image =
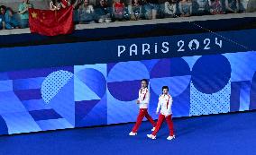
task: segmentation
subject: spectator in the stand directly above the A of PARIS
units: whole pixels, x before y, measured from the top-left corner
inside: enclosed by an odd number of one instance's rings
[[[137,21],[142,18],[142,3],[140,0],[132,0],[132,4],[128,6],[131,20]]]

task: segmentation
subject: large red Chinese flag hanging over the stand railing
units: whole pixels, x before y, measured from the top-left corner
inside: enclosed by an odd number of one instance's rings
[[[74,30],[73,7],[59,11],[29,9],[30,30],[45,36],[69,34]]]

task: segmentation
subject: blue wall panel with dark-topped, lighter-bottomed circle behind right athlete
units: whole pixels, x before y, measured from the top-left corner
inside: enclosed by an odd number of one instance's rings
[[[151,103],[153,103],[153,107],[150,112],[155,114],[161,87],[167,85],[169,93],[175,101],[172,110],[176,112],[173,116],[189,116],[190,82],[191,71],[183,58],[160,59],[151,70]]]

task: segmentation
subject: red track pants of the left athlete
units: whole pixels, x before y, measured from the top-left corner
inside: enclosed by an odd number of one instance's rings
[[[153,118],[148,113],[148,108],[140,108],[139,116],[137,117],[136,124],[134,125],[133,130],[132,130],[133,133],[137,133],[140,125],[142,124],[142,120],[143,120],[144,116],[146,116],[146,118],[151,122],[151,125],[153,125],[153,126],[156,125]]]

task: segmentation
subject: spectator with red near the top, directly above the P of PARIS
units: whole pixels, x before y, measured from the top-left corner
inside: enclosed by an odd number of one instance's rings
[[[113,15],[117,21],[124,21],[124,9],[125,6],[121,0],[114,0],[113,3]]]

